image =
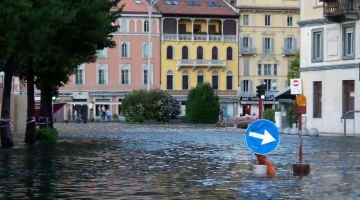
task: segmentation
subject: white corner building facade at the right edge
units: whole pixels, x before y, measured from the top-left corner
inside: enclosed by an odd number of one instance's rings
[[[302,0],[300,72],[307,97],[307,127],[343,133],[340,120],[360,110],[359,0]],[[360,133],[360,113],[349,114],[347,132]]]

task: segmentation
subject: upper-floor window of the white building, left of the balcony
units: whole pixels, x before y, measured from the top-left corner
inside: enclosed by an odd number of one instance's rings
[[[311,30],[311,62],[323,62],[324,28]]]

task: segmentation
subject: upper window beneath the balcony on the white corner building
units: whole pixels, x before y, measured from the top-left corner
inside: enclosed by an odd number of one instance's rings
[[[355,59],[355,24],[343,25],[343,59]]]

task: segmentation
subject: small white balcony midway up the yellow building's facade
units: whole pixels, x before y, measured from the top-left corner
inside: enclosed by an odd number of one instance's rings
[[[192,67],[193,71],[198,67],[206,67],[208,71],[214,67],[221,67],[222,70],[225,70],[226,61],[225,60],[178,60],[176,69],[179,70],[182,67]]]

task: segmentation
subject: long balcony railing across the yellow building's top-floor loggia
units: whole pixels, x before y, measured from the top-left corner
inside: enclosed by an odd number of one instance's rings
[[[208,34],[162,34],[163,41],[204,41],[204,42],[237,42],[236,35],[208,35]]]

